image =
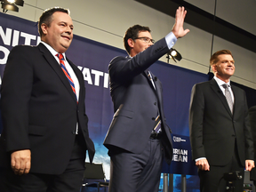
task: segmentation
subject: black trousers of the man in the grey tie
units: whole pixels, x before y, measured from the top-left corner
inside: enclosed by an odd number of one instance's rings
[[[224,173],[239,171],[243,176],[242,180],[235,180],[233,187],[234,192],[242,192],[244,185],[244,166],[240,163],[237,149],[235,147],[232,160],[224,166],[213,166],[210,164],[210,171],[198,171],[200,178],[201,192],[226,192],[227,181],[224,180]]]

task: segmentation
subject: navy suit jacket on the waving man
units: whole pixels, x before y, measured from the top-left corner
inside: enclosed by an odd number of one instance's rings
[[[164,119],[162,84],[152,75],[155,90],[145,72],[168,51],[163,38],[133,58],[116,57],[111,60],[108,70],[115,114],[104,140],[108,149],[114,146],[140,154],[146,148],[159,108],[164,132],[164,153],[167,163],[171,163],[171,130]]]

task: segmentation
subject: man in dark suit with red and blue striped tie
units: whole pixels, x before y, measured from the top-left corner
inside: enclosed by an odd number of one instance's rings
[[[52,8],[38,28],[42,43],[14,47],[4,69],[0,191],[77,192],[86,150],[91,162],[95,150],[84,78],[65,55],[73,22],[67,9]]]

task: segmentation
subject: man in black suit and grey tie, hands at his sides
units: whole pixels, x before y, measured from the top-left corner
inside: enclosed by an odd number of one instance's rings
[[[224,173],[239,171],[235,191],[243,191],[244,167],[254,167],[253,143],[245,92],[230,85],[235,61],[230,51],[215,52],[210,60],[214,77],[195,84],[191,93],[189,128],[200,190],[226,191]],[[226,99],[227,98],[227,99]]]

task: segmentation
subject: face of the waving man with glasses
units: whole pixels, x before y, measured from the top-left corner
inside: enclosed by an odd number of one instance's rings
[[[144,41],[144,38],[140,37],[145,37],[145,39],[152,39],[152,36],[148,31],[140,31],[138,34],[138,38],[135,40],[131,40],[131,44],[129,44],[131,47],[130,55],[132,57],[140,52],[143,52],[152,45],[152,42],[147,43]]]

